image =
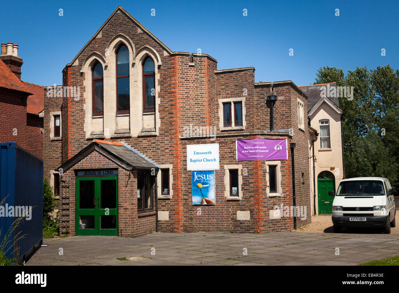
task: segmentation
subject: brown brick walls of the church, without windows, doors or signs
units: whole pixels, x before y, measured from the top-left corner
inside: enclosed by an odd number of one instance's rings
[[[119,12],[118,12],[119,11]],[[310,174],[308,159],[308,130],[298,128],[297,99],[304,103],[304,117],[307,117],[307,96],[291,81],[273,84],[278,100],[274,107],[275,132],[270,132],[270,102],[267,95],[271,83],[255,83],[253,67],[218,71],[217,61],[206,54],[171,52],[160,41],[144,31],[122,8],[107,22],[77,59],[63,69],[63,86],[80,87],[80,98],[49,98],[45,94],[45,173],[50,178],[51,171],[75,156],[88,146],[93,138],[85,133],[85,92],[84,82],[91,76],[81,72],[85,60],[93,52],[105,57],[108,44],[118,34],[129,40],[136,52],[148,46],[158,53],[162,65],[158,66],[158,85],[156,92],[160,98],[158,106],[159,128],[157,135],[114,136],[99,138],[110,142],[125,142],[158,164],[171,164],[170,175],[173,179],[173,195],[170,199],[158,199],[158,210],[169,212],[169,220],[158,222],[160,232],[261,232],[290,231],[293,229],[292,217],[270,219],[269,212],[275,206],[292,206],[291,156],[281,160],[281,197],[269,197],[266,185],[265,161],[237,161],[235,141],[240,139],[269,138],[287,139],[296,143],[295,185],[296,205],[306,206],[306,219],[296,218],[297,227],[311,221]],[[190,65],[190,63],[194,63]],[[138,66],[137,64],[134,66]],[[109,70],[109,69],[107,69]],[[104,71],[106,72],[106,70]],[[130,77],[132,78],[132,77]],[[247,95],[244,96],[244,89]],[[221,130],[219,128],[219,100],[225,98],[245,98],[244,130]],[[62,114],[62,140],[50,140],[48,129],[49,113]],[[131,115],[141,115],[134,113]],[[216,139],[209,137],[182,138],[184,126],[216,127]],[[293,130],[292,136],[281,130]],[[279,131],[280,130],[280,131]],[[191,144],[219,144],[220,169],[215,170],[215,206],[192,205],[191,171],[187,170],[186,147]],[[225,165],[242,165],[247,175],[242,176],[242,194],[239,201],[225,197]],[[68,228],[75,232],[75,171],[78,169],[119,170],[119,236],[140,236],[155,230],[155,213],[137,213],[137,173],[130,171],[131,181],[126,183],[128,171],[124,170],[101,154],[91,153],[70,170],[64,173],[62,180],[69,186],[69,197],[60,199],[65,206],[62,216],[62,231]],[[302,176],[303,173],[303,176]],[[122,184],[123,183],[123,184]],[[127,185],[126,185],[127,184]],[[155,202],[154,202],[155,203]],[[237,211],[249,211],[249,220],[238,220]],[[66,214],[67,213],[67,214]]]

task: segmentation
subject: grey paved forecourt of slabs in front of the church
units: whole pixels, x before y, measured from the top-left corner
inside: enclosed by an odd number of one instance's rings
[[[399,255],[399,234],[153,233],[137,238],[70,236],[43,243],[49,246],[26,265],[357,265]],[[149,259],[117,260],[133,256]]]

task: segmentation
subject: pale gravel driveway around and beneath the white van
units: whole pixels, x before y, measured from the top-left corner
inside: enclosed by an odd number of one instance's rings
[[[396,222],[399,221],[398,217],[399,217],[399,212],[398,215],[396,216]],[[395,228],[391,228],[391,234],[399,234],[398,225],[396,225]],[[312,223],[306,227],[299,228],[297,232],[334,233],[334,229],[332,227],[331,215],[322,215],[322,216],[312,215]],[[382,232],[379,231],[379,229],[369,229],[369,228],[342,228],[342,233],[382,234]]]

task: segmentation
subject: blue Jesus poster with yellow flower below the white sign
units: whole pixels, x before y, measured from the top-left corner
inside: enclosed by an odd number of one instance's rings
[[[215,205],[215,171],[192,171],[193,205]]]

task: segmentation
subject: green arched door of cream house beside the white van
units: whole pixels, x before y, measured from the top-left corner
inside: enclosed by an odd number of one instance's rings
[[[334,197],[328,191],[335,193],[335,179],[331,172],[323,171],[317,178],[319,214],[332,214],[332,201]]]

